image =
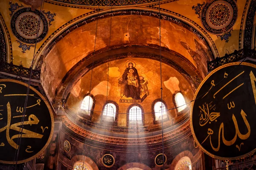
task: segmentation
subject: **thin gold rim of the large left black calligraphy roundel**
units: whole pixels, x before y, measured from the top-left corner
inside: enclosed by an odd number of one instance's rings
[[[20,81],[17,81],[17,80],[13,80],[13,79],[0,79],[0,84],[2,85],[3,82],[14,82],[14,83],[17,83],[17,84],[20,84],[20,85],[23,85],[25,86],[26,88],[28,87],[28,84],[24,83],[24,82],[20,82]],[[2,90],[2,93],[3,93],[3,90],[5,88],[1,88]],[[49,105],[48,102],[46,102],[47,100],[44,98],[44,96],[39,92],[37,91],[35,88],[33,88],[32,86],[29,86],[29,89],[32,90],[33,92],[35,92],[45,103],[45,105],[47,106],[48,110],[49,110],[49,114],[50,114],[50,119],[51,119],[51,131],[49,133],[49,138],[47,139],[47,142],[45,143],[44,147],[38,151],[38,153],[36,153],[34,156],[31,156],[27,159],[23,159],[23,160],[19,160],[17,161],[17,164],[21,164],[21,163],[24,163],[24,162],[27,162],[27,161],[30,161],[32,159],[35,159],[37,156],[39,156],[42,152],[44,152],[44,150],[48,147],[49,143],[51,142],[51,139],[52,139],[52,135],[53,135],[53,131],[54,131],[54,117],[53,117],[53,113],[52,113],[52,109]],[[35,98],[36,99],[36,98]],[[28,107],[27,107],[28,108]],[[30,117],[30,116],[29,116]],[[32,117],[33,119],[34,117]],[[35,118],[34,118],[35,119]],[[34,125],[34,124],[32,124]],[[30,125],[31,126],[31,125]],[[24,128],[25,129],[25,128]],[[45,128],[42,128],[41,127],[41,130],[46,130],[46,127]],[[26,132],[23,132],[23,133],[26,133]],[[22,147],[21,145],[19,147]],[[30,147],[31,148],[31,147]],[[27,148],[26,150],[28,150],[29,148]],[[29,151],[31,152],[31,151]],[[13,164],[13,161],[3,161],[3,160],[0,160],[0,163],[4,163],[4,164]]]

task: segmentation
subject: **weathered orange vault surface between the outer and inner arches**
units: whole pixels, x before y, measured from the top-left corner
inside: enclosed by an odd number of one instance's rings
[[[98,20],[97,37],[96,21],[93,21],[67,34],[46,54],[41,68],[41,82],[50,99],[55,98],[56,89],[67,77],[67,72],[72,71],[74,65],[94,50],[113,48],[115,45],[119,48],[132,45],[157,48],[159,45],[158,18],[122,15],[114,16],[111,20],[111,37],[110,18],[102,18]],[[194,70],[198,69],[199,77],[205,77],[207,60],[211,60],[212,54],[209,54],[209,47],[204,41],[179,23],[167,20],[161,20],[161,35],[163,51],[164,48],[175,51]],[[160,54],[159,51],[157,53]]]

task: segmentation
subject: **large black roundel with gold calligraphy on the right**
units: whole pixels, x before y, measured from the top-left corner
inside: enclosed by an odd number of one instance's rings
[[[201,150],[229,160],[256,151],[256,65],[233,62],[215,69],[194,100],[190,124]]]

